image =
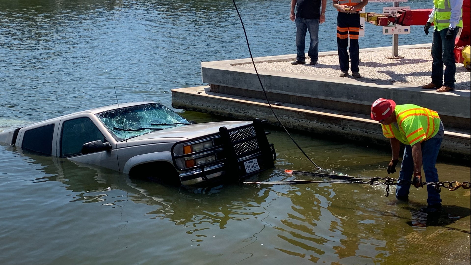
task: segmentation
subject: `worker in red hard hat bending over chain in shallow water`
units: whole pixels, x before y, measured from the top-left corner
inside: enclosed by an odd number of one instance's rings
[[[401,142],[406,145],[399,171],[396,198],[408,200],[412,175],[413,185],[423,187],[422,165],[426,182],[438,182],[439,175],[435,163],[445,129],[436,111],[413,104],[396,105],[391,99],[376,99],[371,105],[371,118],[382,126],[382,132],[390,139],[392,159],[388,174],[396,172]],[[404,183],[400,183],[404,182]],[[427,185],[427,213],[441,209],[440,194],[433,186]]]

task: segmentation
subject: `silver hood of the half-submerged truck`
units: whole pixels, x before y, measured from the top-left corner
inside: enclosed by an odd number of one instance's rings
[[[161,131],[149,132],[141,136],[129,139],[128,141],[140,141],[159,138],[182,138],[192,139],[211,133],[219,132],[219,127],[226,126],[227,129],[252,124],[251,121],[229,121],[229,122],[213,122],[202,124],[191,124],[183,126],[175,126]]]

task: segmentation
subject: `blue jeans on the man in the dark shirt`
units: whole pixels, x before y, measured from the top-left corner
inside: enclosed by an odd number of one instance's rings
[[[308,55],[311,61],[317,62],[319,57],[319,19],[296,17],[294,21],[296,22],[296,59],[301,62],[306,61],[304,48],[306,46],[306,31],[309,31],[311,43]]]

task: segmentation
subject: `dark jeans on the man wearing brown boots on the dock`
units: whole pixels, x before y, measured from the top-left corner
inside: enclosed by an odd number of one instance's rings
[[[459,28],[455,28],[455,37]],[[448,29],[441,31],[433,31],[432,40],[432,82],[440,87],[446,85],[455,88],[455,37],[452,40],[446,40]],[[445,75],[443,75],[443,65],[445,68]],[[445,82],[443,82],[445,81]]]

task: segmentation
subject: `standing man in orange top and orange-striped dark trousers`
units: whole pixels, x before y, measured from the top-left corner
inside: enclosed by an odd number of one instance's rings
[[[360,78],[358,70],[360,51],[358,47],[358,34],[360,33],[360,10],[366,6],[368,0],[333,0],[333,7],[339,11],[337,15],[337,50],[339,52],[340,77],[349,75],[349,46],[350,35],[350,63],[353,78]]]

